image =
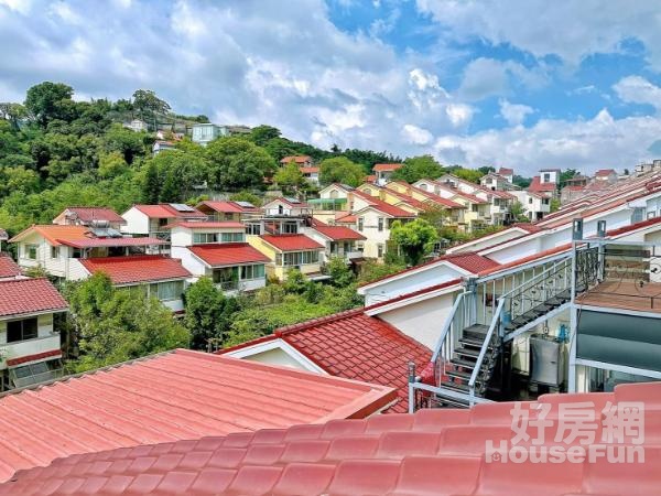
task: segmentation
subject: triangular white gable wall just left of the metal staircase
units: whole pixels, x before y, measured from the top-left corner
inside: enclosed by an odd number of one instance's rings
[[[378,316],[427,348],[434,349],[457,294],[430,298],[398,310],[379,313]]]

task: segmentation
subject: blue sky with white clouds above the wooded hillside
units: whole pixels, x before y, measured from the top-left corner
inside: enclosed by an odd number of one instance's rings
[[[661,155],[655,0],[0,0],[0,101],[152,88],[322,148],[524,175]]]

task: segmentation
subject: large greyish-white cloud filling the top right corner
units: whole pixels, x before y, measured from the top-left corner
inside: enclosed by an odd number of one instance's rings
[[[620,51],[622,41],[638,39],[650,63],[661,68],[657,0],[416,0],[416,7],[448,36],[510,44],[537,57],[557,55],[573,65],[590,54]]]

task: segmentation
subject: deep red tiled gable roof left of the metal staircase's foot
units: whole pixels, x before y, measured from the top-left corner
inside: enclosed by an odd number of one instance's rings
[[[269,337],[282,338],[333,376],[397,388],[398,402],[389,412],[408,411],[409,362],[424,367],[432,357],[429,348],[387,322],[366,315],[364,309],[282,327]],[[264,338],[257,341],[261,342]],[[257,343],[251,341],[219,353]]]

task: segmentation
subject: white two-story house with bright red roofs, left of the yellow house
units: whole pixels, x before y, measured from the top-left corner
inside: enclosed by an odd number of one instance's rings
[[[209,277],[227,293],[254,291],[267,283],[271,260],[246,242],[238,222],[180,222],[171,226],[172,257],[197,279]]]

